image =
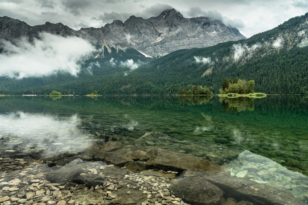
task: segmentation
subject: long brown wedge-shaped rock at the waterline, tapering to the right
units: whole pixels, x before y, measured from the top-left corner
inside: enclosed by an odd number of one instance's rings
[[[162,169],[165,171],[182,172],[184,170],[207,171],[209,173],[228,172],[222,166],[206,159],[173,152],[165,149],[148,151],[148,168]]]

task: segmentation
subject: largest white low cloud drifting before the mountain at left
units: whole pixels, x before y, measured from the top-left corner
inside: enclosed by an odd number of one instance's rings
[[[24,78],[44,76],[56,71],[77,75],[79,61],[95,48],[86,40],[78,37],[62,37],[41,33],[33,43],[21,38],[16,45],[2,40],[4,52],[0,54],[0,76]]]

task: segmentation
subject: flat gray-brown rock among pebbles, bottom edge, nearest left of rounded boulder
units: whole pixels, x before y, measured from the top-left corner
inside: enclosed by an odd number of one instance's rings
[[[130,191],[131,194],[126,193]],[[128,188],[121,188],[115,192],[115,199],[111,203],[116,204],[140,204],[146,200],[146,196],[141,191]]]

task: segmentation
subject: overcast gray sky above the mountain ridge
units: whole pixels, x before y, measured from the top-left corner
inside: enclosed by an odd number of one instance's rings
[[[101,27],[131,15],[149,18],[175,8],[186,18],[207,16],[237,27],[246,37],[308,12],[308,0],[0,0],[0,16],[31,26],[61,22],[75,30]]]

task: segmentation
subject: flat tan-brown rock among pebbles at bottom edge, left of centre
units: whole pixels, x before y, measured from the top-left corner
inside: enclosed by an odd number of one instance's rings
[[[75,200],[74,203],[78,204],[98,204],[102,203],[104,195],[99,192],[90,190],[75,190],[71,200]]]

